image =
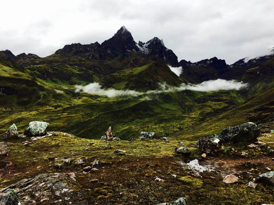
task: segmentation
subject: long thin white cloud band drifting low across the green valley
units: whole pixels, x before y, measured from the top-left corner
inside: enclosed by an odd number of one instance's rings
[[[218,90],[240,90],[247,87],[247,83],[238,82],[235,80],[209,80],[199,83],[197,85],[190,85],[182,83],[178,87],[170,86],[165,83],[159,84],[159,89],[148,90],[147,92],[138,92],[135,90],[116,90],[113,88],[102,88],[99,83],[90,83],[86,86],[77,85],[76,92],[85,92],[93,95],[107,96],[108,98],[120,96],[138,96],[144,94],[159,94],[162,92],[180,92],[183,90],[195,90],[200,92],[210,92]]]

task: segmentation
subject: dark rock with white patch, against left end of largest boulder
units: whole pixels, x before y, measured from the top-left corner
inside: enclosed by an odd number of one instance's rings
[[[196,146],[203,153],[216,154],[221,147],[219,143],[220,139],[218,138],[218,135],[212,134],[198,139]]]

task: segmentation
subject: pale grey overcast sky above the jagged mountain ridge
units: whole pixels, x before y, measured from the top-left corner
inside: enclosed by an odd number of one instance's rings
[[[125,26],[136,42],[163,39],[178,60],[231,64],[274,46],[273,0],[1,1],[0,50],[41,57],[65,44],[102,43]]]

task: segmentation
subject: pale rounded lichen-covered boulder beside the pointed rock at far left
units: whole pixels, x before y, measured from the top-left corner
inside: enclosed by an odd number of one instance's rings
[[[29,126],[24,132],[24,135],[33,136],[44,136],[47,134],[47,128],[49,124],[47,122],[33,121],[29,123]]]

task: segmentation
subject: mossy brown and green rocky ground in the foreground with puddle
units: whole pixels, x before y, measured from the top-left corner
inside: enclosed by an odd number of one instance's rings
[[[216,155],[203,157],[196,140],[105,141],[64,132],[11,138],[0,144],[0,199],[21,204],[272,204],[273,185],[255,181],[274,169],[271,127],[261,125],[253,142],[223,145]]]

